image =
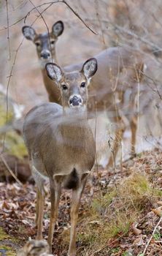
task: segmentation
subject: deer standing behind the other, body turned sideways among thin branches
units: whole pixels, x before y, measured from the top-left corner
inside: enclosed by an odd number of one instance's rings
[[[53,25],[52,31],[55,30],[57,31],[56,34],[54,33],[55,37],[62,34],[63,23],[61,21]],[[25,26],[23,27],[23,35],[26,39],[30,39],[36,44],[36,51],[40,61],[45,64],[45,62],[52,58],[57,63],[55,50],[50,50],[53,33],[49,35],[47,33],[36,34],[33,28]],[[53,47],[55,47],[55,43]],[[44,50],[47,50],[48,57],[42,54]],[[109,120],[116,124],[114,129],[115,139],[112,145],[113,154],[109,157],[107,163],[107,168],[109,168],[114,165],[114,159],[128,124],[131,128],[131,156],[134,157],[136,155],[135,146],[138,115],[136,114],[135,101],[138,84],[142,81],[144,63],[142,54],[139,54],[136,50],[123,47],[107,48],[94,56],[94,58],[97,59],[99,68],[98,74],[93,76],[88,88],[88,118],[92,118],[96,113],[105,110]],[[76,69],[81,69],[82,64],[82,62],[71,64],[63,67],[63,70],[65,72],[72,72]],[[61,104],[61,93],[56,83],[55,86],[51,84],[45,72],[45,65],[42,65],[42,74],[49,101]],[[126,99],[128,90],[133,91],[131,93],[131,99],[129,97]]]

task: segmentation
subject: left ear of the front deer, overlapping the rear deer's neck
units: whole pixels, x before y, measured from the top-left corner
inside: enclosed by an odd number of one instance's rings
[[[61,67],[54,63],[47,63],[45,65],[47,75],[50,79],[55,80],[57,83],[60,82],[61,78],[63,77],[63,72]]]

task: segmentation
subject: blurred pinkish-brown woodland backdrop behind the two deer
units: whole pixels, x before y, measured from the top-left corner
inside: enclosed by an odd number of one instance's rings
[[[68,4],[96,34],[82,23]],[[66,3],[8,0],[0,1],[1,149],[18,159],[27,155],[23,140],[18,135],[18,122],[15,127],[15,119],[20,119],[34,105],[47,101],[35,45],[23,38],[21,29],[24,25],[32,25],[37,33],[42,33],[47,31],[47,26],[51,30],[58,20],[64,23],[63,34],[56,44],[61,66],[85,61],[101,50],[117,45],[144,54],[146,78],[151,83],[148,83],[149,93],[142,100],[148,97],[150,108],[141,110],[136,148],[138,152],[157,146],[161,148],[161,0],[67,0]],[[7,90],[9,105],[5,97]],[[103,113],[97,120],[99,129],[96,136],[99,162],[103,166],[107,164],[109,151],[109,122],[105,119]],[[128,154],[129,129],[125,140],[123,157]]]

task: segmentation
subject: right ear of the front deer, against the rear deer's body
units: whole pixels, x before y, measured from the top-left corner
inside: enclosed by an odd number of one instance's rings
[[[82,66],[81,72],[85,75],[85,78],[92,78],[97,71],[97,60],[95,58],[88,59]]]

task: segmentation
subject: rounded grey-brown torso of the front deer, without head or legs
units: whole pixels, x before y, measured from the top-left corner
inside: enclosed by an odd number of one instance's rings
[[[42,175],[68,176],[74,169],[82,173],[93,167],[95,145],[88,121],[71,115],[63,116],[60,105],[45,103],[26,116],[26,146]]]

